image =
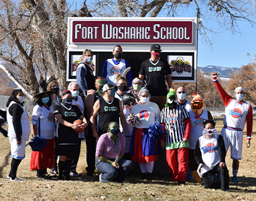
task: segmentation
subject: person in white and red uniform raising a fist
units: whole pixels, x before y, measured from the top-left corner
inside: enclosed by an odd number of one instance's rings
[[[251,145],[251,133],[253,131],[253,108],[245,102],[245,90],[238,86],[235,88],[235,98],[229,96],[218,82],[218,72],[212,72],[212,79],[225,104],[225,117],[220,135],[222,135],[226,151],[231,146],[231,159],[233,159],[234,183],[238,183],[237,172],[239,160],[242,158],[243,129],[247,123],[247,147]]]

